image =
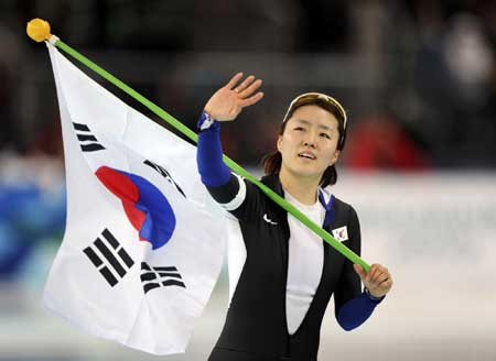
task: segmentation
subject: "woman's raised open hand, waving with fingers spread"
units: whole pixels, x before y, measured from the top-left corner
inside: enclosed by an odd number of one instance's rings
[[[254,92],[261,86],[262,80],[250,75],[241,84],[242,73],[236,74],[229,83],[218,89],[205,105],[205,111],[217,121],[235,120],[242,108],[255,105],[263,92]]]

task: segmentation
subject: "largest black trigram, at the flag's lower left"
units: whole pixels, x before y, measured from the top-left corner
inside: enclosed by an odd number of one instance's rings
[[[114,287],[119,283],[116,273],[122,278],[132,267],[134,261],[132,261],[128,252],[126,252],[108,229],[105,229],[101,232],[101,236],[106,242],[100,238],[97,238],[93,244],[85,248],[83,252],[87,255],[89,261],[91,261],[98,272],[100,272],[107,283]]]

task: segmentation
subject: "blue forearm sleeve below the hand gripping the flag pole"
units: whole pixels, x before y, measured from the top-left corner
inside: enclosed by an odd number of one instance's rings
[[[343,329],[351,331],[365,322],[374,311],[374,308],[382,302],[381,298],[370,298],[365,292],[349,299],[336,311],[336,319]]]

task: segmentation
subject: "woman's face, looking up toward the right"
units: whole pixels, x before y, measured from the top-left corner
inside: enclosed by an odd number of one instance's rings
[[[337,119],[327,110],[314,105],[298,108],[278,138],[281,171],[321,179],[339,156],[337,129]]]

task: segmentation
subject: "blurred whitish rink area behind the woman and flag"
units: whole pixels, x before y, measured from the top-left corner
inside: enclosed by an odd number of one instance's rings
[[[331,302],[319,360],[496,360],[496,174],[346,173],[332,192],[358,212],[365,261],[386,265],[395,285],[351,332]],[[1,286],[0,360],[158,360],[41,307],[55,251],[40,249],[23,283]],[[161,360],[207,359],[227,309],[225,271],[187,352]]]

